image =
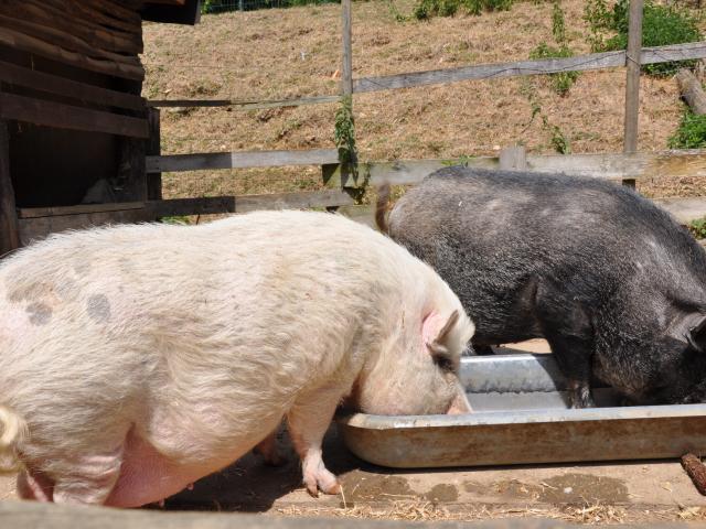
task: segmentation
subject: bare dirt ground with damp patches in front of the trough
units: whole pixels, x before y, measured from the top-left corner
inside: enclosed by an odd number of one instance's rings
[[[248,455],[168,499],[164,508],[406,520],[706,520],[706,498],[674,461],[395,471],[357,460],[332,429],[324,458],[340,475],[343,494],[312,498],[300,485],[296,457],[289,457],[285,466],[272,468]],[[0,500],[15,499],[13,479],[0,477]]]

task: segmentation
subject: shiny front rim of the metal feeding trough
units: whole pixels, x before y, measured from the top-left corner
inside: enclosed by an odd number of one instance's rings
[[[706,417],[706,404],[635,406],[581,410],[481,411],[462,415],[373,415],[353,413],[340,417],[336,421],[340,424],[352,428],[393,430],[689,417]]]

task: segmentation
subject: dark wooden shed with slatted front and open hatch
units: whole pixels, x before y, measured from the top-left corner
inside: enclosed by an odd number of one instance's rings
[[[0,255],[154,217],[142,207],[161,198],[145,164],[142,21],[199,13],[200,0],[0,0]]]

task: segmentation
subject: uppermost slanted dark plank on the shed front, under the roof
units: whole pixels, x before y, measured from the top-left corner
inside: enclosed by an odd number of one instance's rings
[[[136,55],[142,53],[142,39],[139,35],[114,31],[78,17],[66,17],[65,11],[43,0],[13,0],[0,2],[0,13],[14,14],[44,25],[53,25],[81,36],[90,44],[111,52]]]

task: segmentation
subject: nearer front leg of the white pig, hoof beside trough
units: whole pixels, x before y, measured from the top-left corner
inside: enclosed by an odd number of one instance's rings
[[[321,388],[300,395],[287,414],[289,433],[301,458],[303,482],[309,494],[314,497],[319,496],[319,490],[325,494],[339,494],[341,490],[339,481],[324,466],[321,457],[323,435],[341,398],[340,386]]]

